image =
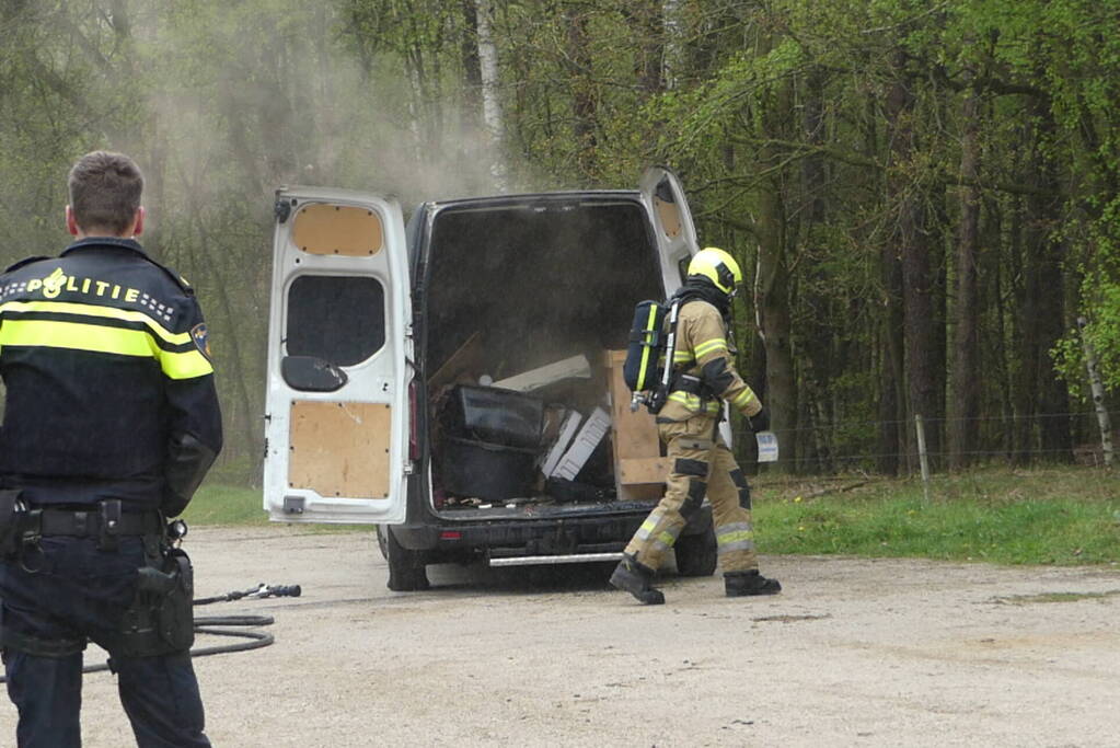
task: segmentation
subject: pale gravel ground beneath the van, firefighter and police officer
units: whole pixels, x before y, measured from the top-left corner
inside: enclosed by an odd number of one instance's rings
[[[391,592],[372,532],[202,527],[187,550],[199,597],[304,589],[198,608],[276,617],[274,645],[196,662],[215,746],[1120,745],[1116,568],[767,557],[781,596],[668,572],[647,608],[603,565]],[[130,745],[112,675],[84,699],[85,745]],[[15,721],[4,702],[0,744]]]

